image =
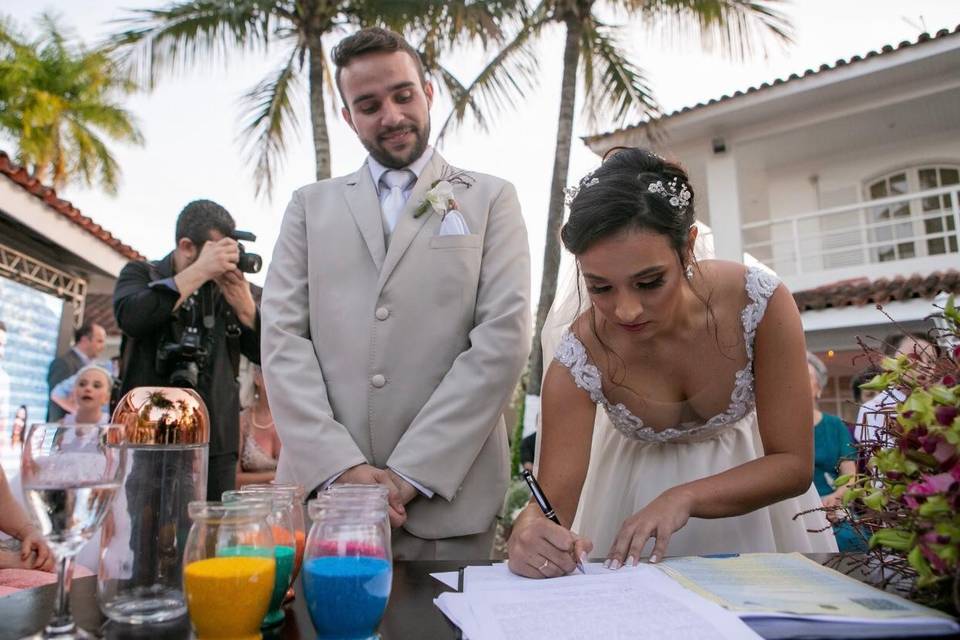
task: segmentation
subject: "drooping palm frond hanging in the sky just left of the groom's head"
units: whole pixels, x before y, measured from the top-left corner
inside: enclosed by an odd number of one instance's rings
[[[295,96],[299,90],[297,59],[300,48],[295,47],[286,62],[243,98],[246,120],[241,138],[243,155],[253,165],[254,191],[269,197],[273,193],[274,177],[283,160],[289,135],[296,135],[300,125],[297,119]]]

